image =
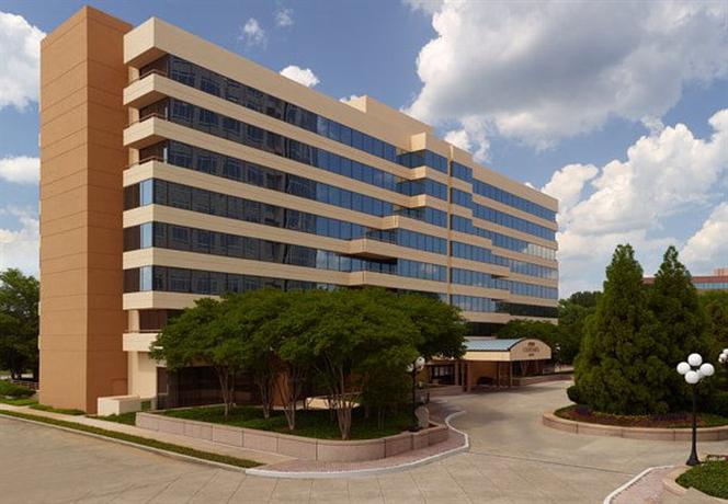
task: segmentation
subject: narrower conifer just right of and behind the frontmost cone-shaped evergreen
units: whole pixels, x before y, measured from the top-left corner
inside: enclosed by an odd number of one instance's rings
[[[669,389],[667,401],[672,410],[678,410],[687,405],[690,390],[683,377],[672,369],[694,352],[707,357],[715,345],[706,332],[697,289],[672,245],[664,252],[655,284],[649,288],[649,306],[656,318],[656,333],[666,347],[666,363],[670,366],[664,378]]]

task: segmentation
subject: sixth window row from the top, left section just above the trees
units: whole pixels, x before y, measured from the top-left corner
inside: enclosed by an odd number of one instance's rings
[[[317,282],[286,280],[254,275],[204,272],[168,266],[141,266],[124,270],[124,291],[157,290],[219,296],[260,288],[282,290],[333,289],[338,286]]]

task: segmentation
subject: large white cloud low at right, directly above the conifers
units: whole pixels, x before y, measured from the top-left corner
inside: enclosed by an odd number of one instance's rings
[[[720,181],[728,174],[728,108],[709,123],[708,138],[696,138],[683,124],[668,126],[638,139],[624,161],[601,168],[570,164],[554,173],[543,191],[561,199],[557,240],[564,295],[599,287],[618,243],[635,245],[652,273],[664,248],[681,243],[664,236],[670,219],[725,201]],[[719,216],[712,219],[703,233],[707,239],[715,237],[710,229]],[[694,237],[685,251],[689,267],[707,239]]]

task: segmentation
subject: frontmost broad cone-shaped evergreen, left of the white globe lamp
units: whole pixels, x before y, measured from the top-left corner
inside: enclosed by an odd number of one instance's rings
[[[585,324],[576,362],[582,402],[614,414],[668,410],[668,351],[656,331],[642,285],[642,268],[630,245],[618,245],[606,268],[604,294]]]

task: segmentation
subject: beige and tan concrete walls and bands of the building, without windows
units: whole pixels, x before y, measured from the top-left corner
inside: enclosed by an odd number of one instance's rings
[[[94,38],[99,36],[101,39]],[[79,54],[78,47],[84,47],[82,54]],[[209,294],[167,291],[158,287],[152,289],[147,288],[149,286],[146,284],[137,287],[123,286],[123,277],[138,279],[144,272],[151,275],[155,267],[204,272],[207,275],[244,275],[306,282],[311,285],[379,286],[431,293],[452,302],[455,302],[454,299],[488,300],[493,303],[515,303],[535,310],[533,313],[526,311],[516,316],[505,310],[486,310],[463,305],[463,314],[469,321],[481,324],[502,324],[513,318],[549,320],[548,317],[544,319],[538,309],[555,308],[555,296],[519,294],[505,285],[507,282],[521,283],[533,287],[533,291],[550,289],[555,293],[558,286],[558,264],[553,259],[557,249],[556,242],[514,227],[478,218],[471,208],[455,204],[451,192],[458,190],[473,194],[476,204],[546,230],[557,229],[555,220],[525,211],[515,205],[474,194],[473,183],[453,176],[450,168],[445,170],[447,173],[431,165],[408,168],[391,158],[375,156],[371,151],[337,141],[274,115],[232,103],[221,95],[203,91],[200,87],[183,83],[171,72],[143,70],[145,66],[155,64],[164,56],[182,58],[205,71],[217,72],[226,79],[268,93],[287,103],[286,106],[304,108],[387,142],[394,146],[397,154],[430,151],[445,158],[448,167],[452,162],[457,162],[469,168],[474,180],[508,192],[510,197],[525,199],[549,211],[558,209],[555,199],[477,164],[469,153],[437,138],[431,126],[374,99],[361,96],[342,103],[158,19],[150,19],[132,28],[98,11],[84,9],[50,34],[44,42],[43,49],[41,268],[44,287],[41,345],[42,374],[45,371],[45,377],[42,375],[44,402],[93,411],[95,398],[101,396],[128,393],[151,397],[156,393],[158,363],[149,360],[147,351],[162,323],[158,321],[164,320],[158,314],[167,313],[168,310],[181,310],[191,306],[194,299]],[[101,81],[92,80],[95,73],[87,70],[95,68],[103,69],[103,76],[99,73],[103,77]],[[59,77],[77,70],[78,76],[71,80]],[[374,182],[364,182],[295,161],[280,152],[272,153],[241,141],[204,133],[192,125],[178,124],[164,114],[143,116],[144,107],[171,103],[170,101],[184,102],[229,121],[240,122],[243,126],[254,126],[272,135],[303,142],[312,149],[322,149],[354,163],[373,167],[397,181],[432,181],[442,184],[446,186],[447,196],[409,196]],[[60,105],[52,106],[54,103]],[[87,113],[79,113],[78,105],[87,106]],[[70,133],[68,128],[59,127],[60,123],[54,122],[60,114],[68,114],[65,121],[78,122],[80,133],[66,136]],[[327,184],[352,194],[377,198],[401,211],[373,215],[372,211],[323,203],[317,201],[317,197],[306,198],[281,190],[230,180],[219,174],[183,169],[166,157],[140,159],[141,149],[167,146],[171,141],[268,167],[286,176],[295,175],[311,183]],[[91,161],[91,153],[103,153],[103,167]],[[81,162],[87,158],[88,162]],[[195,191],[204,190],[225,198],[259,202],[274,206],[282,213],[297,211],[338,219],[369,231],[426,234],[426,239],[442,240],[446,244],[446,252],[436,253],[423,248],[405,247],[401,243],[367,238],[368,234],[352,239],[331,238],[287,229],[285,226],[173,207],[157,201],[124,210],[122,199],[125,192],[132,194],[140,184],[150,180],[181,184]],[[442,213],[448,224],[441,226],[403,215],[407,209],[424,211],[425,208]],[[470,219],[473,225],[481,230],[521,240],[528,245],[523,250],[517,247],[499,247],[494,240],[482,233],[454,230],[450,225],[452,216]],[[418,266],[421,271],[444,271],[445,278],[444,282],[442,278],[434,279],[421,272],[401,276],[367,268],[339,271],[322,268],[318,263],[300,266],[284,264],[282,260],[265,262],[164,247],[137,247],[124,251],[123,236],[126,236],[127,231],[137,232],[135,229],[150,222],[265,240],[283,247],[305,247],[318,251],[317,253],[334,253],[342,257],[379,261],[390,265],[403,260],[413,261],[423,263]],[[83,245],[73,253],[68,252],[69,243],[77,242],[82,242]],[[490,251],[498,254],[502,261],[482,262],[455,256],[451,253],[454,242]],[[90,250],[92,248],[93,251]],[[526,250],[531,248],[550,252],[538,255]],[[509,261],[527,263],[526,266],[542,268],[549,274],[526,275],[521,272],[523,267],[509,267],[505,264]],[[488,287],[482,284],[454,283],[451,282],[452,268],[490,275],[502,282],[496,284],[493,280],[493,285]],[[103,325],[100,325],[102,322]],[[61,335],[67,337],[62,339]],[[65,360],[65,357],[82,365],[67,369],[68,360]]]

